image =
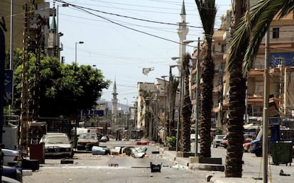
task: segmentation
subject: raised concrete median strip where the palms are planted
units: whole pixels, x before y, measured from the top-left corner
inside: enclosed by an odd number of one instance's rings
[[[231,177],[224,177],[224,165],[218,165],[218,164],[208,164],[208,163],[196,163],[193,162],[193,157],[177,157],[177,153],[175,150],[165,150],[165,148],[162,148],[158,145],[155,145],[154,143],[151,143],[149,145],[154,145],[156,148],[158,148],[159,153],[163,154],[165,157],[170,158],[171,161],[177,162],[178,165],[183,165],[185,167],[188,167],[190,170],[206,170],[206,171],[213,171],[211,174],[207,174],[205,176],[206,182],[213,182],[213,183],[258,183],[262,182],[262,180],[256,180],[252,179],[252,177],[249,176],[243,176],[241,178],[231,178]],[[222,163],[223,164],[223,163]],[[219,173],[214,173],[215,171]]]

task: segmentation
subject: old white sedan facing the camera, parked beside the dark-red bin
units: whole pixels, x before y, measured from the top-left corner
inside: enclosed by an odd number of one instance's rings
[[[67,135],[48,135],[43,139],[45,157],[73,157],[72,143]]]

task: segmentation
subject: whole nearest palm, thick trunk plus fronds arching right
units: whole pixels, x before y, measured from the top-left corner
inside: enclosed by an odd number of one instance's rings
[[[244,8],[241,8],[245,7],[245,0],[235,1],[234,7],[236,8],[234,11],[239,15],[236,15],[236,22],[232,28],[235,31],[227,60],[227,68],[230,73],[229,109],[234,110],[230,111],[228,123],[228,131],[231,134],[228,136],[228,144],[231,145],[231,148],[227,149],[226,177],[241,177],[241,158],[243,155],[241,152],[241,144],[243,143],[241,132],[243,131],[244,122],[241,113],[244,111],[246,74],[257,55],[261,40],[274,16],[278,15],[278,18],[282,18],[290,11],[293,11],[294,1],[258,0],[254,6],[251,6],[249,18],[246,16],[241,18],[245,12]],[[255,33],[250,35],[249,33],[253,31]],[[242,70],[240,70],[241,64],[243,64]],[[236,74],[236,72],[239,73]],[[243,72],[243,77],[240,74],[241,72]]]

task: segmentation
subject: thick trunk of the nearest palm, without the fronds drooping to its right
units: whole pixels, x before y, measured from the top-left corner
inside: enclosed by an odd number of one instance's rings
[[[225,177],[242,176],[243,125],[246,97],[246,77],[242,75],[242,61],[249,42],[249,26],[238,30],[240,21],[246,12],[246,0],[235,0],[233,4],[234,22],[232,23],[232,41],[227,59],[229,72],[229,121],[227,123],[227,159]]]

